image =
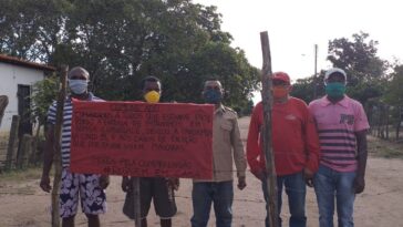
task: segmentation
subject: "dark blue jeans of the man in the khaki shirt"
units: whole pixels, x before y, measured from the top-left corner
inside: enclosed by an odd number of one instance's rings
[[[206,227],[210,216],[211,203],[216,214],[217,227],[230,227],[232,223],[234,186],[229,182],[194,183],[192,190],[194,215],[192,227]]]

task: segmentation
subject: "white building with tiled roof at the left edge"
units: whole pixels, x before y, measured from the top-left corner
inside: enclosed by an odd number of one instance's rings
[[[23,114],[31,106],[29,96],[32,85],[43,80],[45,72],[52,71],[55,71],[52,66],[0,54],[0,95],[9,97],[9,105],[1,121],[0,133],[10,131],[12,115],[20,115],[21,117],[19,134],[32,132],[32,124],[27,114]]]

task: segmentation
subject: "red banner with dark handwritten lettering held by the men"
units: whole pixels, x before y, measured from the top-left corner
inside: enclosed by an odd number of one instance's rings
[[[213,177],[213,105],[73,102],[71,171]]]

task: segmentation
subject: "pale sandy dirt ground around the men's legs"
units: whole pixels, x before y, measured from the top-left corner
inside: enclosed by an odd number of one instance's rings
[[[245,140],[249,118],[240,120]],[[366,188],[356,196],[354,220],[358,227],[403,227],[403,161],[370,157],[366,171]],[[134,226],[134,221],[122,214],[124,193],[120,188],[121,177],[112,177],[107,188],[107,213],[101,216],[102,226]],[[247,188],[235,190],[235,227],[264,226],[265,203],[261,187],[250,173],[247,175]],[[39,179],[25,183],[0,182],[0,227],[42,227],[50,226],[50,194],[39,188]],[[174,226],[188,227],[192,217],[192,180],[182,179],[176,193],[178,213],[173,219]],[[286,196],[283,195],[283,198]],[[318,226],[317,199],[312,188],[307,194],[308,226]],[[287,199],[283,202],[283,226],[288,226]],[[86,226],[85,216],[79,213],[76,226]],[[159,226],[153,207],[148,215],[148,226]],[[208,226],[215,226],[211,211]]]

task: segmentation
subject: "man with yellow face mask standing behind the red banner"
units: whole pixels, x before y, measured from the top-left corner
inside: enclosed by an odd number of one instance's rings
[[[144,101],[147,103],[158,103],[162,93],[162,84],[159,79],[147,76],[142,81],[142,91]],[[128,218],[134,218],[133,210],[133,180],[127,176],[122,178],[122,190],[126,193],[123,213]],[[141,218],[142,227],[147,227],[147,215],[152,200],[154,202],[155,213],[161,218],[162,227],[172,226],[172,217],[177,211],[174,189],[178,189],[178,178],[164,177],[141,177],[140,194],[141,194]]]

